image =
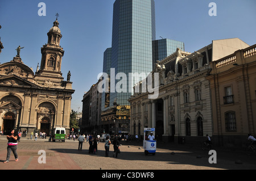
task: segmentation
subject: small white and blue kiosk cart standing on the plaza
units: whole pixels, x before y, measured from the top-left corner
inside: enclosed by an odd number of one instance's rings
[[[145,133],[146,132],[152,132],[155,136],[155,128],[144,128],[144,140],[143,140],[143,149],[145,150],[145,155],[152,154],[155,155],[156,151],[156,140],[146,140]]]

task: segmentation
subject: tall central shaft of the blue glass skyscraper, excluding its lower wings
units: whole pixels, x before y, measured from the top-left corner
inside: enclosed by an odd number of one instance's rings
[[[129,104],[129,73],[152,71],[152,40],[155,40],[154,0],[116,0],[113,12],[111,68],[127,75],[127,92],[110,93],[110,106],[114,101]],[[114,75],[110,75],[110,86],[115,87]],[[131,86],[137,82],[131,82]],[[124,85],[122,85],[124,86]],[[121,87],[122,88],[122,87]]]

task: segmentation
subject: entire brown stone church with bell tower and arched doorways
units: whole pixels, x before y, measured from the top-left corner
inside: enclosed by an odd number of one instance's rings
[[[10,62],[0,64],[0,128],[4,133],[19,131],[49,132],[63,127],[69,132],[72,89],[70,73],[64,81],[59,22],[47,33],[48,43],[41,48],[42,60],[34,71],[23,64],[19,51]],[[17,48],[18,49],[18,48]]]

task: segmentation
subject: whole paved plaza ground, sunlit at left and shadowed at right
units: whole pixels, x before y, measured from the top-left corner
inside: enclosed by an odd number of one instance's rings
[[[113,158],[113,145],[105,157],[104,143],[98,144],[97,154],[89,154],[88,142],[78,150],[79,142],[48,142],[48,139],[29,137],[18,142],[19,161],[11,153],[9,163],[3,163],[7,154],[7,140],[0,137],[1,170],[216,170],[256,169],[256,155],[242,150],[217,149],[217,163],[210,164],[208,151],[199,146],[158,143],[155,155],[144,155],[142,142],[122,141],[121,154]],[[142,148],[142,149],[141,149]],[[39,150],[45,151],[46,163],[39,163]],[[236,163],[237,162],[237,163]],[[240,164],[239,164],[240,163]]]

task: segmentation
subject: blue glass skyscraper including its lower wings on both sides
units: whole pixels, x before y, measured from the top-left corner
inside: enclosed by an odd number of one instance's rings
[[[148,74],[154,68],[156,60],[174,53],[177,48],[184,50],[180,41],[162,39],[155,40],[155,2],[154,0],[116,0],[113,8],[112,48],[104,52],[103,72],[110,77],[110,87],[114,87],[123,78],[115,79],[117,73],[127,76],[127,92],[102,93],[101,110],[113,106],[129,105],[128,99],[135,83],[141,77],[129,79],[129,73]],[[110,68],[115,74],[110,74]],[[138,81],[139,80],[139,81]],[[123,88],[122,85],[121,88]],[[118,84],[119,87],[119,84]],[[111,89],[111,88],[110,88]]]

